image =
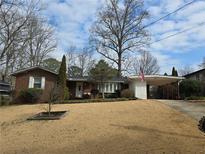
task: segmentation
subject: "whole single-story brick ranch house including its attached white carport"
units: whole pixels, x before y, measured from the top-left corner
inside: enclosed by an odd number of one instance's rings
[[[40,66],[30,67],[16,71],[12,76],[15,77],[15,97],[17,98],[21,90],[27,88],[40,88],[43,93],[40,102],[47,102],[51,89],[54,87],[57,79],[57,73],[52,72]],[[104,92],[106,94],[115,94],[117,91],[129,88],[134,97],[140,99],[147,98],[178,98],[178,83],[183,77],[145,75],[145,80],[141,81],[140,76],[130,76],[127,78],[115,78],[105,82]],[[93,89],[102,92],[100,83],[89,79],[88,77],[67,78],[67,87],[69,88],[70,98],[84,98],[91,95]],[[156,92],[156,91],[160,91]]]

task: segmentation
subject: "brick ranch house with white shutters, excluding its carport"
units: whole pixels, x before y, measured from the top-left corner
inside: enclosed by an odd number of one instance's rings
[[[50,98],[51,90],[56,84],[57,73],[52,72],[40,66],[22,69],[11,74],[15,77],[14,99],[18,101],[20,91],[28,88],[39,88],[43,90],[39,102],[47,102]],[[105,81],[105,94],[112,95],[124,87],[124,79],[112,79]],[[102,92],[100,82],[93,81],[88,77],[69,77],[67,78],[67,87],[71,99],[90,98],[93,89]]]

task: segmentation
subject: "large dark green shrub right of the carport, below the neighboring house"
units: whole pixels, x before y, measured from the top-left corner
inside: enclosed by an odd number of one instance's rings
[[[190,79],[183,80],[179,85],[179,92],[182,98],[199,96],[202,92],[201,82]]]

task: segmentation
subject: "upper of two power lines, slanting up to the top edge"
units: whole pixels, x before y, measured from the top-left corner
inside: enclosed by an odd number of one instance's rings
[[[189,6],[189,5],[191,5],[192,3],[196,2],[196,1],[197,1],[197,0],[193,0],[193,1],[189,2],[189,3],[184,4],[183,6],[179,7],[179,8],[176,9],[176,10],[174,10],[173,12],[170,12],[170,13],[168,13],[167,15],[162,16],[162,17],[160,17],[159,19],[157,19],[157,20],[155,20],[155,21],[153,21],[153,22],[151,22],[151,23],[145,25],[144,27],[142,27],[142,29],[145,29],[145,28],[147,28],[147,27],[149,27],[149,26],[152,26],[153,24],[159,22],[160,20],[162,20],[162,19],[164,19],[164,18],[166,18],[166,17],[168,17],[168,16],[170,16],[170,15],[172,15],[172,14],[174,14],[174,13],[180,11],[180,10],[182,10],[183,8],[185,8],[185,7]]]

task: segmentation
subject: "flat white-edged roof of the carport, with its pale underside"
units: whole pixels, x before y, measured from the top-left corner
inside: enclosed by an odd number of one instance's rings
[[[170,83],[174,83],[180,80],[185,79],[184,77],[176,77],[176,76],[164,76],[164,75],[145,75],[145,81],[147,82],[148,85],[166,85]],[[133,80],[141,80],[140,76],[130,76],[129,77],[130,81]]]

